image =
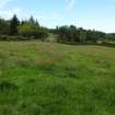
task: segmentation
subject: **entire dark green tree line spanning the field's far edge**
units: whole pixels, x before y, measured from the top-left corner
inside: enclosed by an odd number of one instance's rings
[[[15,14],[11,20],[0,18],[0,39],[44,39],[50,33],[56,36],[59,43],[71,42],[84,44],[97,41],[115,41],[115,33],[107,34],[95,30],[84,30],[74,25],[47,28],[41,26],[38,21],[33,16],[22,21]]]

